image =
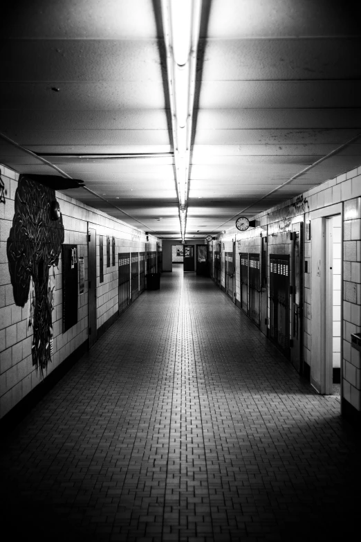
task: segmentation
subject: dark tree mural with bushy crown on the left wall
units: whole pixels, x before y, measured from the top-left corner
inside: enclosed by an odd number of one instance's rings
[[[57,212],[58,210],[58,212]],[[55,190],[20,175],[7,254],[15,304],[29,299],[33,326],[33,365],[44,374],[51,361],[55,270],[64,242],[64,226]],[[53,269],[49,272],[50,267]]]

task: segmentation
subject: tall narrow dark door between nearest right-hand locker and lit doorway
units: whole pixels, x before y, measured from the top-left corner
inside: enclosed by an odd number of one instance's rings
[[[292,288],[291,288],[291,343],[290,360],[302,372],[303,348],[303,222],[292,226]]]

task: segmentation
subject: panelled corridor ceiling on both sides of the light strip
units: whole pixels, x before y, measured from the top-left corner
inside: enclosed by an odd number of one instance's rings
[[[68,195],[178,239],[161,13],[160,0],[9,3],[0,132],[91,190]],[[356,1],[203,0],[186,238],[360,165],[359,21]],[[3,138],[0,161],[55,174]]]

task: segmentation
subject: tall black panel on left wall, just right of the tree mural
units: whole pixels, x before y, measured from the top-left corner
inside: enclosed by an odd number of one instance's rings
[[[77,323],[77,247],[62,245],[63,333]]]

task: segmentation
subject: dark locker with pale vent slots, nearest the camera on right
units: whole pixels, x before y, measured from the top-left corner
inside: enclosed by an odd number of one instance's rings
[[[290,257],[270,254],[270,339],[290,355]]]

